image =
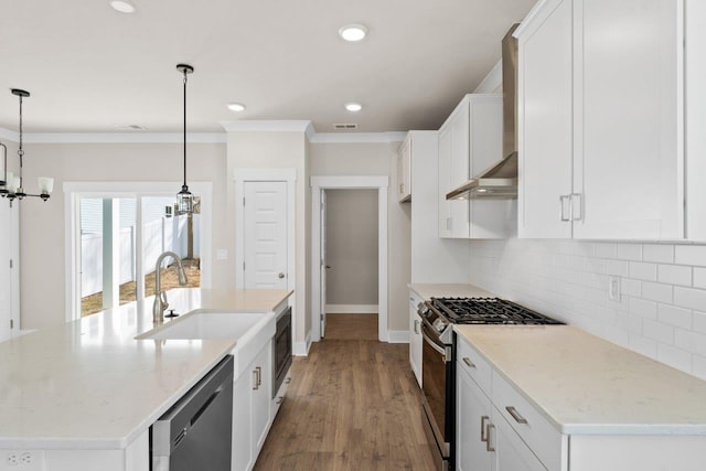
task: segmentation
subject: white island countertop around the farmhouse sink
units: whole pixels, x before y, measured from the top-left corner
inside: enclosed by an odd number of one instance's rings
[[[178,313],[271,312],[288,290],[169,291]],[[272,314],[274,315],[274,314]],[[0,448],[119,449],[235,346],[235,340],[136,340],[152,299],[0,343]]]

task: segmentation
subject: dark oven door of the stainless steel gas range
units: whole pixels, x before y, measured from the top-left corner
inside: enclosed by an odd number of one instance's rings
[[[424,338],[421,352],[424,397],[421,404],[425,428],[429,441],[435,445],[432,452],[437,458],[437,468],[440,470],[451,469],[452,349],[436,340],[435,331],[426,322],[421,324],[421,336]]]

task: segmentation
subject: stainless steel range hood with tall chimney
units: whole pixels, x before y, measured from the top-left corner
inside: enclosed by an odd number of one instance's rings
[[[503,38],[503,156],[461,186],[447,193],[447,200],[511,200],[517,197],[517,40],[512,33]]]

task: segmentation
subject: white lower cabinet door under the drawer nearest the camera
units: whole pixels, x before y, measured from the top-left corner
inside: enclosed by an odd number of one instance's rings
[[[495,410],[493,429],[491,430],[491,446],[495,448],[496,460],[493,470],[498,471],[546,471],[539,459],[534,456],[530,447],[510,427],[507,421]],[[494,441],[493,441],[494,440]],[[493,445],[494,443],[494,445]]]

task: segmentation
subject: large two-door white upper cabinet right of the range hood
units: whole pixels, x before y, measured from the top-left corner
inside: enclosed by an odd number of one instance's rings
[[[545,0],[517,29],[520,236],[684,233],[683,2]]]

